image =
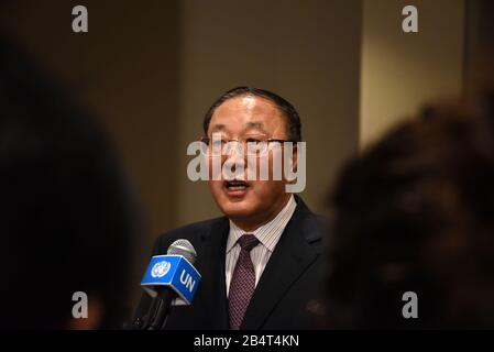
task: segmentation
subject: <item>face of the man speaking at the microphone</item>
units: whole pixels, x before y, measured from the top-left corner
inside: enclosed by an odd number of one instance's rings
[[[253,136],[287,140],[287,122],[274,102],[253,96],[240,96],[227,100],[219,106],[209,124],[208,136],[221,135],[224,141],[250,141]],[[240,223],[255,223],[257,226],[271,220],[286,204],[289,195],[285,191],[285,180],[273,180],[272,165],[275,153],[283,154],[283,148],[268,148],[266,158],[270,162],[270,179],[259,180],[260,162],[256,165],[248,161],[244,153],[232,151],[221,157],[221,166],[244,161],[244,175],[234,179],[243,183],[232,183],[223,177],[220,180],[209,180],[215,201],[221,211],[231,220]],[[211,169],[211,158],[209,164]],[[248,169],[255,168],[256,180],[248,179]]]

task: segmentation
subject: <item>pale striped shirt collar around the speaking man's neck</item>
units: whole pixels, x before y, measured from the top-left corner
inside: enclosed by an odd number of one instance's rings
[[[297,202],[292,195],[288,199],[288,202],[273,220],[250,232],[243,231],[237,224],[234,224],[233,221],[230,220],[230,233],[227,241],[227,253],[229,253],[233,249],[240,237],[245,233],[252,233],[253,235],[255,235],[259,242],[267,248],[270,252],[273,252],[277,241],[279,240],[279,237],[286,228],[286,224],[294,215],[296,207]]]

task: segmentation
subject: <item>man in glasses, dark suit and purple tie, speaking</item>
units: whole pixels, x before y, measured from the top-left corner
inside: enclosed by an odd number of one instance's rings
[[[211,106],[204,132],[208,183],[224,216],[157,239],[154,255],[188,240],[201,275],[194,302],[173,307],[166,329],[318,328],[325,230],[286,175],[305,168],[297,111],[271,91],[239,87]],[[144,294],[134,321],[149,319],[151,306]]]

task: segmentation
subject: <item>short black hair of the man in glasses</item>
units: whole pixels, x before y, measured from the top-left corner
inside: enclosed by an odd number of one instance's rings
[[[212,106],[209,108],[208,112],[205,116],[204,119],[204,132],[205,134],[208,133],[209,123],[211,122],[212,114],[215,113],[216,109],[221,106],[224,101],[244,96],[244,95],[252,95],[255,97],[261,97],[264,99],[267,99],[272,102],[274,102],[277,108],[283,112],[283,114],[287,119],[287,134],[288,139],[292,142],[300,142],[301,141],[301,123],[300,123],[300,117],[298,116],[297,110],[294,108],[294,106],[288,102],[286,99],[279,97],[278,95],[260,88],[251,88],[251,87],[237,87],[233,89],[230,89],[229,91],[224,92],[219,97]]]

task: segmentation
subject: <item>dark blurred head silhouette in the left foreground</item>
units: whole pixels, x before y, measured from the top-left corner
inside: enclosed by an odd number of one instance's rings
[[[0,328],[119,328],[131,197],[88,113],[0,37]],[[73,319],[75,292],[88,319]]]

